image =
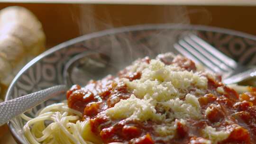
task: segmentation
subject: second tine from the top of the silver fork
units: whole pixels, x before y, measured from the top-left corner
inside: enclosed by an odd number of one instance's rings
[[[191,45],[197,52],[201,53],[206,59],[208,59],[210,62],[214,63],[219,69],[230,72],[232,71],[231,67],[227,66],[225,63],[223,63],[221,60],[216,58],[216,56],[213,56],[205,50],[201,45],[198,45],[197,42],[195,42],[193,39],[190,37],[186,36],[183,38],[185,42],[187,42],[189,45]]]

